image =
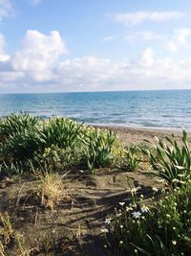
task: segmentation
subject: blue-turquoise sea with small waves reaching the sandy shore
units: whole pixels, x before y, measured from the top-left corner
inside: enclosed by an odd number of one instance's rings
[[[191,129],[191,90],[0,95],[0,116],[21,110],[88,124]]]

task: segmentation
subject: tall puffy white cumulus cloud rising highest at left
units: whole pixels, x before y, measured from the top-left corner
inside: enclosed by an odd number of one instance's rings
[[[15,71],[23,71],[36,81],[49,81],[53,77],[54,65],[66,53],[65,42],[58,32],[44,35],[28,31],[22,49],[11,58],[11,64]]]

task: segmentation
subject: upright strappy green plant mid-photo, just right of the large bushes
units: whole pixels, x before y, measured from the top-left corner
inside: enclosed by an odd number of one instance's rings
[[[116,133],[112,130],[99,128],[85,130],[85,159],[90,170],[105,167],[109,163],[115,140]]]

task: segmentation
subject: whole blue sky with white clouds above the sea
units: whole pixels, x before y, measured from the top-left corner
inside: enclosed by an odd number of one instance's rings
[[[190,0],[0,0],[0,93],[191,89]]]

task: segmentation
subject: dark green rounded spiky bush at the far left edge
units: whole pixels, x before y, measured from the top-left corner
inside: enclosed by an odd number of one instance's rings
[[[32,157],[41,142],[40,121],[29,114],[11,114],[0,122],[1,155],[15,161]]]

